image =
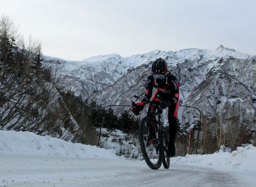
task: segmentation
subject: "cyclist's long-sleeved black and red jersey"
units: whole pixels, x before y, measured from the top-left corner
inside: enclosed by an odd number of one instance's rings
[[[153,88],[157,88],[157,94],[163,97],[164,100],[169,100],[172,104],[175,104],[179,100],[179,87],[178,80],[172,74],[168,73],[163,80],[154,79],[153,75],[150,75],[146,82],[146,93],[143,98],[150,99]]]

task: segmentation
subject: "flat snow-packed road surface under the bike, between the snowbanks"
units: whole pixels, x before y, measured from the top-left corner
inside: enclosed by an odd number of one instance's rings
[[[235,175],[185,164],[150,169],[145,161],[0,157],[0,187],[242,187]]]

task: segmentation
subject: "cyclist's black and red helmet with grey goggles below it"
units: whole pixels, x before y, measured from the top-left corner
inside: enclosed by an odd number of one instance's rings
[[[163,58],[156,59],[152,64],[153,77],[155,79],[164,79],[167,75],[168,65]]]

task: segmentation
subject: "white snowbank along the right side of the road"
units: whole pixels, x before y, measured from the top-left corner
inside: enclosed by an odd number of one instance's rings
[[[218,152],[214,154],[187,154],[185,157],[173,157],[173,163],[185,163],[196,166],[225,169],[229,171],[251,171],[256,173],[256,147],[237,147],[232,153]]]

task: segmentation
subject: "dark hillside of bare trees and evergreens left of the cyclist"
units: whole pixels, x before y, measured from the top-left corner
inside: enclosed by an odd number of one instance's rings
[[[95,102],[85,103],[56,85],[55,65],[42,64],[40,42],[19,34],[8,16],[0,22],[0,130],[31,131],[72,142],[95,145],[102,114],[108,129],[135,131],[138,121],[127,111],[120,116]],[[126,126],[129,122],[129,126]],[[135,127],[135,128],[134,128]]]

